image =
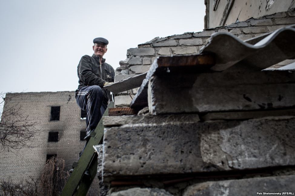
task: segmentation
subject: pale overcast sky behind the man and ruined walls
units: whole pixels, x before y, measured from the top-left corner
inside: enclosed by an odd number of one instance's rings
[[[0,0],[0,92],[74,91],[95,37],[115,69],[140,43],[202,31],[204,15],[204,0]]]

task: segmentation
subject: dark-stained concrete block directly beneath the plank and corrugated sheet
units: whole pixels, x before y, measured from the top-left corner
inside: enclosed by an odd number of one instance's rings
[[[284,82],[294,81],[294,73],[251,72],[244,75],[251,75],[251,82],[237,72],[154,76],[148,86],[150,111],[171,114],[295,106],[295,84]],[[270,78],[276,78],[277,83],[270,83]]]

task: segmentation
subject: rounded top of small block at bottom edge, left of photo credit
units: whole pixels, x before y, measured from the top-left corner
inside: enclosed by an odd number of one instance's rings
[[[164,189],[159,188],[130,188],[124,191],[113,192],[108,196],[173,196]]]

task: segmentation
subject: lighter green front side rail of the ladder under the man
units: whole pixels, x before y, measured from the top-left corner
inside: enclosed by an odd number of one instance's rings
[[[108,115],[108,109],[114,107],[114,102],[108,104],[108,108],[105,110],[103,116]],[[102,124],[102,119],[99,121],[97,127],[94,130],[95,136],[91,137],[88,141],[84,152],[82,153],[80,159],[78,160],[78,165],[74,168],[70,178],[68,179],[65,187],[61,191],[60,196],[73,196],[76,192],[78,185],[81,183],[82,177],[89,168],[91,160],[96,156],[97,153],[94,153],[93,146],[101,144],[104,134],[104,126]],[[88,187],[89,188],[89,187]]]

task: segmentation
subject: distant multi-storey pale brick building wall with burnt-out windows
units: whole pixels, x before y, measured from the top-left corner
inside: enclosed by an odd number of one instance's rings
[[[8,93],[4,111],[13,105],[21,106],[21,112],[36,121],[40,130],[35,136],[34,148],[0,153],[1,179],[22,181],[29,176],[38,178],[46,162],[47,154],[57,154],[65,160],[70,169],[85,145],[80,141],[80,131],[85,130],[85,120],[81,120],[81,109],[75,100],[75,92],[28,92]],[[50,121],[51,106],[60,106],[60,120]],[[58,142],[48,142],[48,132],[58,131]]]

